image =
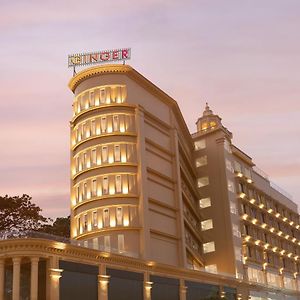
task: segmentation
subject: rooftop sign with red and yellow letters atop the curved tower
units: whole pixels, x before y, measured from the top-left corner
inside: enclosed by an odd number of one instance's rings
[[[68,67],[85,66],[130,59],[130,48],[68,55]]]

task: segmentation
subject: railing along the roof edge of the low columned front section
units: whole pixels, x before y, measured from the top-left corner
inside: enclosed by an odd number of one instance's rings
[[[97,248],[89,247],[88,244],[85,244],[84,241],[77,241],[72,240],[70,238],[57,236],[53,234],[48,234],[44,232],[34,231],[34,230],[25,230],[25,231],[19,231],[19,230],[2,230],[0,231],[0,241],[1,240],[13,240],[13,239],[46,239],[51,240],[55,242],[61,242],[65,244],[74,245],[77,247],[83,247],[93,250],[99,250],[103,252],[109,252],[109,253],[115,253],[119,255],[129,256],[129,257],[138,257],[138,253],[130,252],[130,251],[120,251],[117,248],[108,248],[104,245],[98,244]]]

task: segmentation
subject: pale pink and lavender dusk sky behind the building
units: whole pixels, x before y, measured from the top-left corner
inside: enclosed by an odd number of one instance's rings
[[[207,101],[300,205],[299,0],[0,0],[0,195],[69,214],[67,55],[131,47],[191,132]]]

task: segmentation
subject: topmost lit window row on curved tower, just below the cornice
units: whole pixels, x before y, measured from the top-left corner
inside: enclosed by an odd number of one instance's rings
[[[74,114],[79,114],[81,111],[99,105],[123,103],[125,99],[126,87],[121,85],[105,86],[85,91],[78,95],[74,101]]]

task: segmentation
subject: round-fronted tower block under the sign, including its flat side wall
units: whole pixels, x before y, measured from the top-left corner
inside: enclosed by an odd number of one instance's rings
[[[176,101],[127,65],[83,70],[69,87],[72,238],[203,267],[193,143]]]

